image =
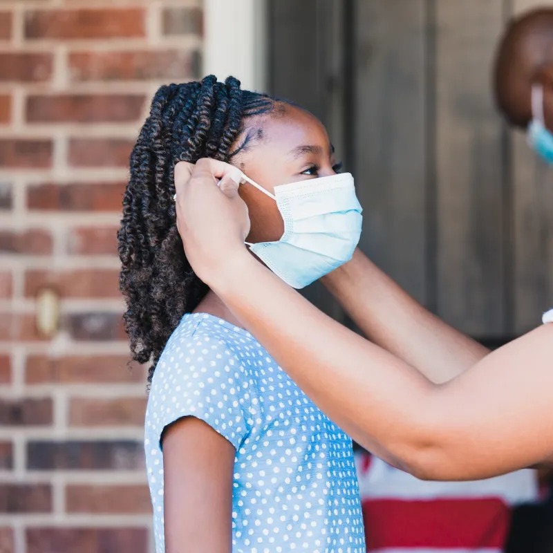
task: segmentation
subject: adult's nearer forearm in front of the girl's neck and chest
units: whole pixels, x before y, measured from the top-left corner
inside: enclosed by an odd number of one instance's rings
[[[326,317],[249,254],[232,263],[208,282],[214,292],[332,420],[413,471],[409,460],[431,435],[424,420],[431,382]]]

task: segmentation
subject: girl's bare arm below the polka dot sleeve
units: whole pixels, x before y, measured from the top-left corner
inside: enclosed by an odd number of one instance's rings
[[[232,551],[235,450],[208,424],[186,417],[162,437],[165,551]]]

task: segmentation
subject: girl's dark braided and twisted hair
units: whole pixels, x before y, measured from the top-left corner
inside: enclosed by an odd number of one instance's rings
[[[177,231],[174,167],[205,157],[229,162],[256,140],[245,120],[281,103],[242,91],[234,77],[223,84],[214,75],[162,86],[153,97],[131,153],[118,232],[124,326],[133,359],[151,362],[149,382],[182,315],[193,311],[208,291],[194,274]],[[232,151],[238,138],[241,145]]]

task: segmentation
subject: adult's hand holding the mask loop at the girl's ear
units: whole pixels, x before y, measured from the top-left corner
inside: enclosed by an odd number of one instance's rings
[[[178,232],[191,267],[208,285],[246,252],[250,217],[238,195],[241,180],[239,169],[212,159],[175,167]]]

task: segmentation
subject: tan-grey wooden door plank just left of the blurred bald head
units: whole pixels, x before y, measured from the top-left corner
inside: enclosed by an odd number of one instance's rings
[[[438,314],[475,337],[505,330],[503,126],[490,92],[502,0],[436,13]]]

